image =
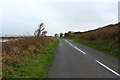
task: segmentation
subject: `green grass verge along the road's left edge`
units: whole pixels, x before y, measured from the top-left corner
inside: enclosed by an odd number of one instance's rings
[[[21,60],[24,62],[22,65],[12,71],[11,78],[47,78],[49,66],[52,63],[53,55],[57,47],[57,40],[36,49],[42,54],[33,56],[32,58],[26,57]],[[27,60],[27,61],[26,61]]]

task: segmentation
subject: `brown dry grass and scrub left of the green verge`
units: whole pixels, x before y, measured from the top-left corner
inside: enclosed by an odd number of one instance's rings
[[[36,48],[52,41],[53,37],[26,37],[15,41],[2,43],[2,67],[3,71],[14,70],[17,64],[25,57],[32,57],[36,54],[42,54]],[[26,59],[27,60],[27,59]]]

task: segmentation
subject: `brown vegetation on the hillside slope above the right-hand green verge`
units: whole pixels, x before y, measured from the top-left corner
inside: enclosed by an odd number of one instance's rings
[[[120,35],[118,31],[120,31],[120,23],[107,25],[105,27],[101,27],[95,30],[80,32],[78,34],[65,34],[67,35],[65,37],[117,43],[118,36]]]

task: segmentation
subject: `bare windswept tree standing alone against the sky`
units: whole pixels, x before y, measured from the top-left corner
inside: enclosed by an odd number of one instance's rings
[[[45,27],[44,27],[44,23],[41,23],[40,25],[38,25],[38,29],[34,32],[35,36],[43,36],[47,33],[47,31],[44,31]]]

